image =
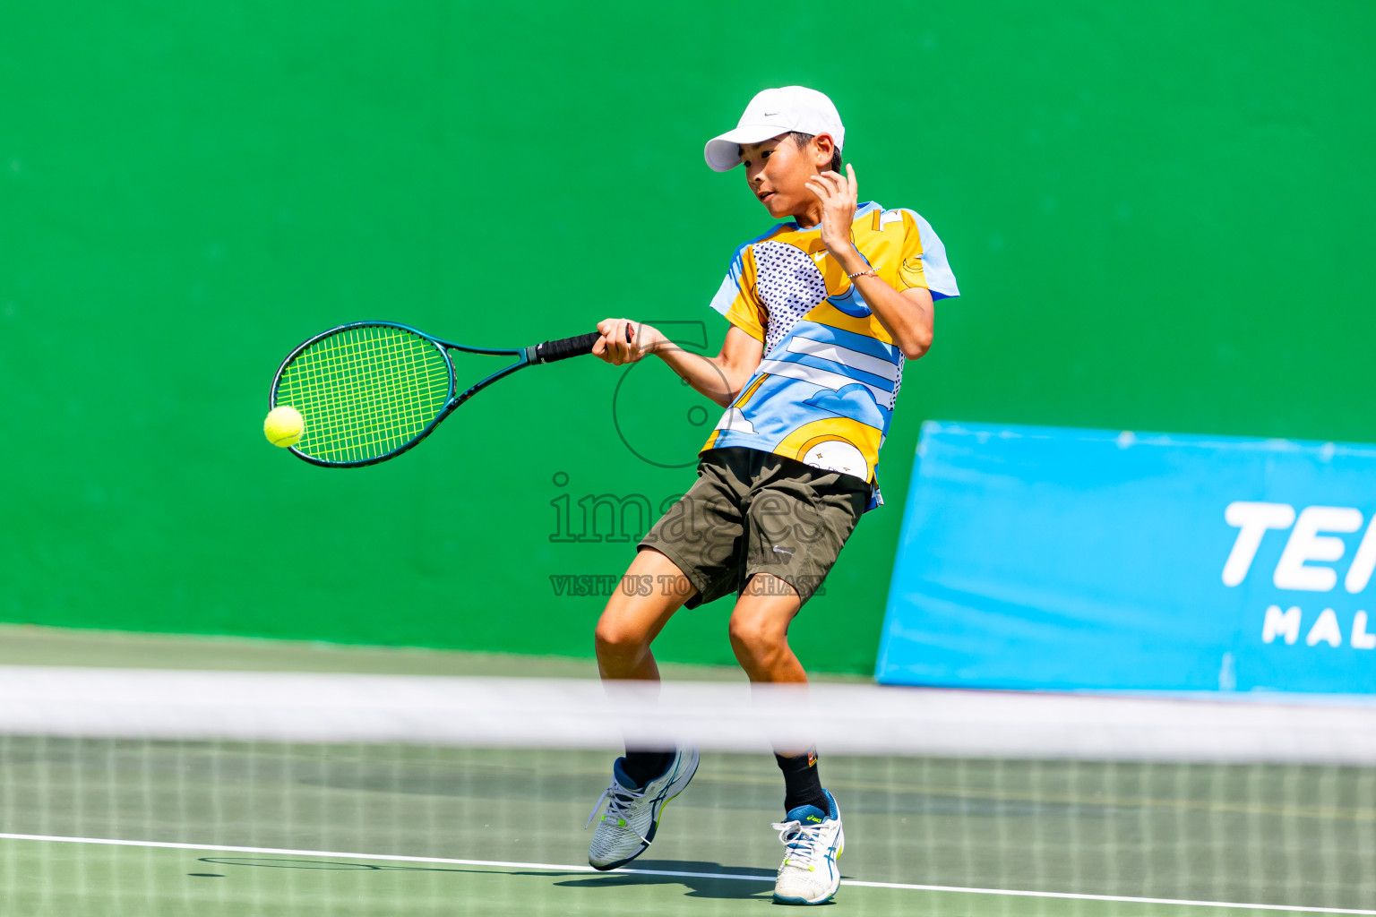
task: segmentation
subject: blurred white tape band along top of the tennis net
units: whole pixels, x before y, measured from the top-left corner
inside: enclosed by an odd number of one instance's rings
[[[1376,705],[0,665],[0,734],[1376,764]]]

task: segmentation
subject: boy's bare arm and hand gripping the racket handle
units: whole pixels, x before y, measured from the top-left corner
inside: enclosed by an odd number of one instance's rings
[[[632,326],[632,340],[626,340],[626,326]],[[682,377],[688,385],[717,404],[727,407],[740,393],[742,386],[760,367],[764,344],[735,324],[717,356],[703,356],[678,346],[658,329],[627,319],[603,319],[597,323],[603,337],[593,345],[593,355],[612,366],[636,363],[654,353]]]

